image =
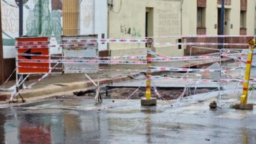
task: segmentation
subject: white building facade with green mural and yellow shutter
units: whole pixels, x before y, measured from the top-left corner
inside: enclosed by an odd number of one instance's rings
[[[24,0],[22,15],[24,36],[51,37],[54,43],[60,43],[61,35],[98,34],[100,39],[107,36],[106,0]],[[0,84],[15,69],[15,38],[19,37],[18,0],[1,0],[1,22],[3,48],[0,49],[0,62],[5,65],[0,69]],[[107,44],[100,43],[99,49],[106,51]],[[61,54],[61,51],[60,48],[51,48],[50,53]]]

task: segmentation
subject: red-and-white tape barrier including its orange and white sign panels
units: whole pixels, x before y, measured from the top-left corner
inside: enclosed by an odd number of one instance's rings
[[[207,35],[207,36],[191,36],[190,38],[227,38],[227,37],[241,37],[239,36],[216,36],[216,35]],[[248,38],[251,36],[242,36]],[[156,38],[156,37],[154,37]],[[186,39],[186,36],[170,36],[170,37],[158,37],[158,38],[178,38]],[[201,43],[198,41],[189,42],[183,41],[182,43],[154,43],[153,39],[150,38],[138,38],[138,39],[96,39],[96,35],[88,36],[74,36],[74,37],[62,37],[61,44],[53,45],[50,43],[49,38],[47,37],[25,37],[16,39],[16,69],[17,74],[44,74],[39,81],[45,79],[48,75],[52,73],[54,69],[61,70],[62,73],[98,73],[98,71],[142,71],[142,69],[100,69],[99,64],[126,64],[126,65],[146,65],[146,99],[151,98],[152,89],[161,98],[161,94],[156,90],[156,86],[152,84],[152,81],[155,79],[165,80],[165,81],[196,81],[196,82],[240,82],[245,83],[244,79],[239,79],[238,77],[231,77],[227,73],[230,71],[236,71],[242,67],[232,67],[226,68],[218,67],[217,69],[196,69],[191,68],[190,65],[187,68],[181,67],[169,67],[169,66],[156,66],[154,63],[158,62],[189,62],[190,61],[199,61],[199,60],[216,60],[221,61],[222,58],[238,60],[241,63],[246,63],[241,60],[241,56],[246,56],[246,53],[234,52],[231,49],[211,49],[215,50],[216,54],[203,54],[198,56],[192,56],[192,50],[190,50],[190,56],[179,56],[179,57],[170,57],[165,56],[164,54],[158,54],[152,50],[146,50],[146,56],[135,56],[140,52],[132,52],[125,54],[124,56],[108,56],[100,57],[98,55],[98,43],[147,43],[150,46],[193,46],[193,45],[207,45],[207,46],[248,46],[247,43],[209,43],[207,41]],[[49,54],[49,48],[61,48],[62,54],[58,56],[51,56]],[[195,47],[196,49],[196,47]],[[200,48],[203,49],[203,48]],[[54,58],[54,59],[51,59]],[[123,59],[123,60],[119,60]],[[54,64],[54,66],[51,66]],[[56,65],[61,64],[61,67]],[[144,70],[145,71],[145,70]],[[172,72],[185,72],[187,73],[223,73],[228,79],[189,79],[188,77],[181,78],[171,78],[171,77],[160,77],[152,76],[152,73],[156,71],[172,71]],[[184,73],[181,75],[184,75]],[[22,82],[17,80],[17,85],[20,85]],[[37,81],[37,82],[39,82]],[[255,82],[255,79],[249,79],[251,82]],[[36,83],[36,82],[35,82]],[[33,84],[35,84],[33,83]],[[33,84],[30,84],[31,87]],[[18,96],[20,92],[14,92],[12,99],[15,96]]]

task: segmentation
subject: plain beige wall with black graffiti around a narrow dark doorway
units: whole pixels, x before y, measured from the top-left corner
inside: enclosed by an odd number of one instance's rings
[[[148,37],[181,35],[181,0],[116,0],[109,8],[108,37],[138,38],[146,35],[146,11],[148,11]],[[111,9],[111,10],[110,10]],[[177,39],[154,39],[154,43]],[[146,50],[144,43],[110,43],[112,56]],[[181,56],[184,50],[178,46],[153,48],[154,51],[169,56]]]

